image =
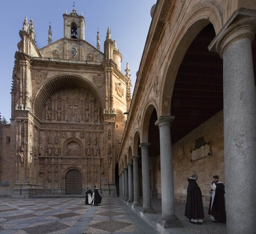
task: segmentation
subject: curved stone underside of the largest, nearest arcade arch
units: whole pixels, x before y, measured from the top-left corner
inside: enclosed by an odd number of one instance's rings
[[[164,72],[160,83],[159,108],[159,115],[161,116],[170,115],[172,92],[177,72],[194,38],[208,24],[213,24],[216,34],[222,28],[221,14],[212,3],[200,5],[197,2],[197,6],[193,7],[193,11],[188,12],[187,15],[187,19],[184,20],[185,24],[177,33],[175,43],[172,43],[174,46],[168,48],[166,60],[163,63]]]

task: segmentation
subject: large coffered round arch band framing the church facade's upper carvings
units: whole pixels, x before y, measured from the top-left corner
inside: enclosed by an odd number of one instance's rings
[[[34,98],[32,100],[32,109],[34,111],[34,115],[42,121],[44,104],[47,102],[50,96],[62,89],[76,87],[82,87],[89,90],[91,94],[94,95],[101,108],[103,108],[102,95],[100,92],[98,92],[97,87],[91,81],[76,74],[64,74],[52,77],[50,80],[45,81],[42,86],[40,86],[34,92]]]

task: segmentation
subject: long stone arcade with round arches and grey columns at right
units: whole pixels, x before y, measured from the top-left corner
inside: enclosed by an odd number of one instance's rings
[[[152,10],[153,11],[153,10]],[[197,173],[204,206],[210,179],[226,187],[228,233],[256,229],[256,4],[168,1],[155,6],[118,154],[121,199],[180,226]],[[143,197],[143,204],[140,203]]]

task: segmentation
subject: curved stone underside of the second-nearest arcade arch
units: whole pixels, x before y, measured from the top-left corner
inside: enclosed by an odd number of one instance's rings
[[[151,114],[153,110],[157,111],[156,104],[154,101],[149,101],[143,112],[142,132],[141,132],[141,143],[148,142],[148,130]]]

